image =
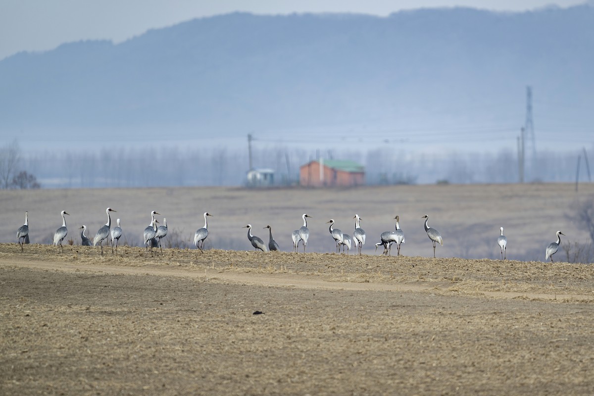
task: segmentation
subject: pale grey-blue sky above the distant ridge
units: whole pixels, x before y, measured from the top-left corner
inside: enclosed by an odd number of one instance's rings
[[[589,0],[594,4],[594,0]],[[555,4],[571,7],[587,0],[2,0],[0,59],[20,51],[43,51],[87,39],[122,42],[150,28],[193,18],[248,11],[355,12],[388,15],[402,9],[473,7],[526,11]]]

